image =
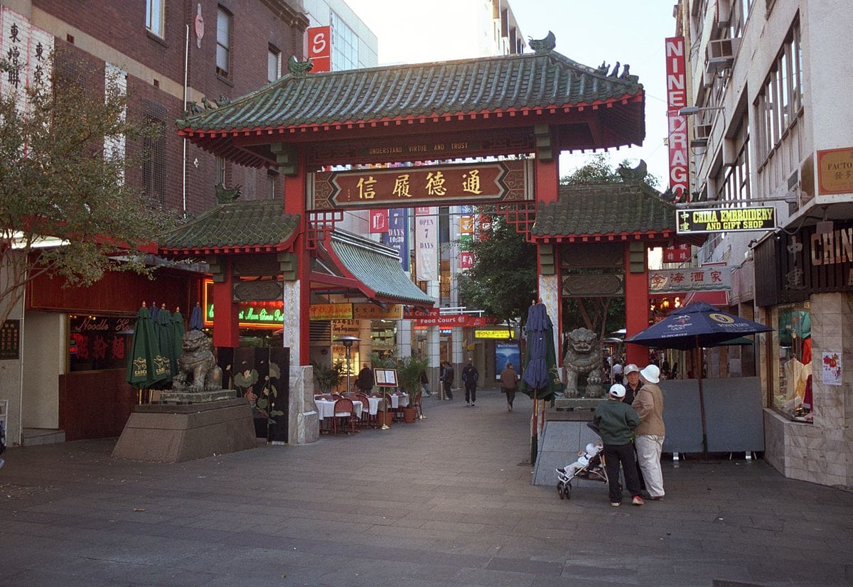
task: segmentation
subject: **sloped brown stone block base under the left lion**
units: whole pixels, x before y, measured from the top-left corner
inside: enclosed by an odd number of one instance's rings
[[[246,399],[137,405],[113,458],[182,462],[257,446]]]

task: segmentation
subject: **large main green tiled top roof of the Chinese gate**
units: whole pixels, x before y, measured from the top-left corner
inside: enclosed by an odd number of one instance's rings
[[[572,117],[589,124],[588,113],[599,111],[596,116],[606,119],[595,124],[612,136],[598,142],[608,144],[561,147],[640,144],[645,136],[643,104],[637,76],[608,76],[550,52],[287,74],[177,125],[181,134],[207,150],[260,166],[275,160],[259,148],[264,141],[320,140],[327,131],[385,125],[405,129],[438,119],[479,119],[480,125],[497,127],[518,115],[514,124],[522,117],[530,126],[569,124]]]

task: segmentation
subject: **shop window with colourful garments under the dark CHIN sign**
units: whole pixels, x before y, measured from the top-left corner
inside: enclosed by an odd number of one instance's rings
[[[809,303],[780,306],[779,387],[773,407],[794,421],[811,421],[811,384]]]

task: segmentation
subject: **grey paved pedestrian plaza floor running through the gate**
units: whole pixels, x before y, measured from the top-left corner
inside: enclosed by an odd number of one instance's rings
[[[661,502],[561,501],[523,464],[530,399],[463,397],[177,464],[112,459],[115,439],[7,450],[0,584],[853,584],[853,493],[688,461],[664,464]]]

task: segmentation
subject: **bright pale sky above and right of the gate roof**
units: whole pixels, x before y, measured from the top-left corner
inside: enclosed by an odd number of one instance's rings
[[[483,0],[345,0],[379,40],[380,65],[465,59],[455,49],[454,10]],[[664,38],[675,34],[676,0],[510,0],[525,41],[554,32],[562,55],[598,67],[606,61],[630,64],[646,90],[646,139],[641,147],[610,149],[613,166],[646,160],[665,188],[669,156],[666,138]],[[449,31],[451,31],[449,33]],[[526,49],[530,51],[531,49]],[[621,71],[621,70],[620,70]],[[590,154],[560,155],[560,176],[570,174]]]

